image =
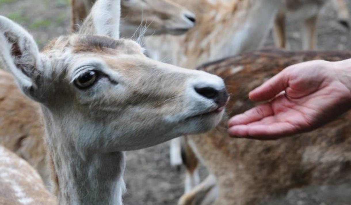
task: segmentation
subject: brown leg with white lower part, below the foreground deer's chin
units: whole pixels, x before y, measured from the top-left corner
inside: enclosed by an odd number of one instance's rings
[[[187,193],[200,183],[198,171],[199,160],[185,137],[181,150],[181,158],[186,169],[184,192]]]

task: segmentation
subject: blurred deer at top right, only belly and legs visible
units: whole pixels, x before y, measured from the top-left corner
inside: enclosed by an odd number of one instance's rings
[[[317,48],[317,21],[321,9],[328,0],[284,0],[274,21],[274,40],[278,48],[287,48],[285,19],[302,21],[301,36],[303,50]],[[338,21],[349,29],[349,10],[345,0],[332,0],[338,13]]]

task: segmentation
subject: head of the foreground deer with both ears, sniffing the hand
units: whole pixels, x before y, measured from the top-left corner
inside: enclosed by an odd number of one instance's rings
[[[227,100],[223,80],[153,61],[137,43],[118,40],[118,5],[98,1],[80,35],[59,37],[42,53],[27,31],[1,17],[5,68],[76,145],[138,149],[216,126]],[[90,132],[104,137],[86,139]]]

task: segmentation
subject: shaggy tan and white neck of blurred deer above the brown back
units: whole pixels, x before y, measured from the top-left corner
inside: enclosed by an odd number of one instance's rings
[[[281,0],[222,0],[215,5],[208,4],[205,11],[198,13],[201,19],[195,29],[181,37],[181,42],[175,42],[174,63],[197,68],[210,61],[259,49],[273,26],[280,4]]]

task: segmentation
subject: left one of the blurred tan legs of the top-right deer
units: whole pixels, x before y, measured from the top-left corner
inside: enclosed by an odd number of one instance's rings
[[[286,48],[285,13],[279,11],[274,21],[274,42],[278,48]]]

